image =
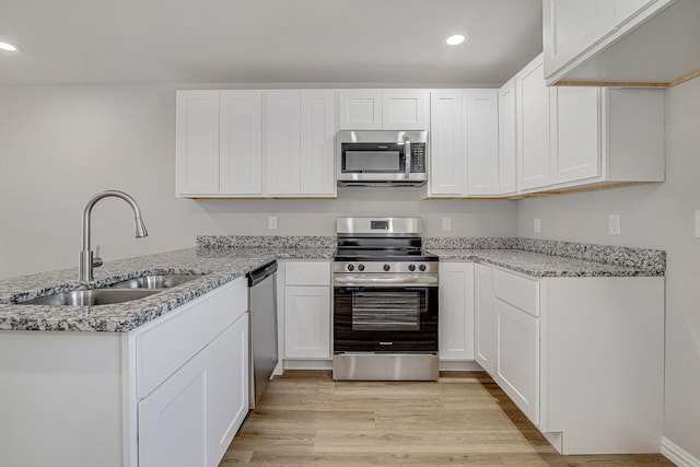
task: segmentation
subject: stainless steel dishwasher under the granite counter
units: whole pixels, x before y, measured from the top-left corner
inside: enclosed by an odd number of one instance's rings
[[[250,409],[260,399],[277,366],[277,261],[248,272],[250,307]]]

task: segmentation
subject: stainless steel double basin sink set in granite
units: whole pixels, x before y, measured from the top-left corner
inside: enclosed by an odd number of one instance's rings
[[[60,292],[40,299],[20,302],[18,305],[48,306],[98,306],[130,302],[162,292],[195,279],[202,275],[152,275],[116,282],[102,289],[73,290]]]

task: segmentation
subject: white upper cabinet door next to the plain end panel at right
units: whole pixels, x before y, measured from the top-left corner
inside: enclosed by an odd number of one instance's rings
[[[553,89],[550,117],[552,183],[600,175],[600,89]]]

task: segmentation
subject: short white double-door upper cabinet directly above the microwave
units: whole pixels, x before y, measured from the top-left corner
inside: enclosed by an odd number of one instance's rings
[[[342,90],[341,130],[427,130],[425,90]]]

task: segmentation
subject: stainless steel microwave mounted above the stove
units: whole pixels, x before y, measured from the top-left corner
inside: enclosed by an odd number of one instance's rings
[[[428,180],[428,131],[338,131],[336,153],[339,186]]]

